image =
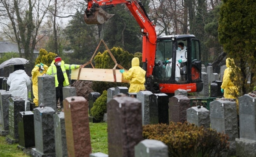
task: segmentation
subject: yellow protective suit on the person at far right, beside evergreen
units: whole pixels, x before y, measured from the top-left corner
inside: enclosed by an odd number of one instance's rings
[[[234,97],[234,94],[232,93],[237,93],[238,94],[238,88],[234,86],[233,82],[230,80],[230,73],[232,72],[232,69],[230,68],[230,63],[233,62],[232,65],[234,65],[234,60],[231,58],[226,59],[226,66],[227,69],[224,71],[223,75],[223,81],[221,84],[221,88],[224,89],[224,97],[227,99],[237,99]]]

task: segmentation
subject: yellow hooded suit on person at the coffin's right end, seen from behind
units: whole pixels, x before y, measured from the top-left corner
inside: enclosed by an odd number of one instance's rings
[[[146,71],[139,66],[139,58],[132,58],[132,68],[123,73],[124,79],[130,80],[129,93],[145,90],[145,75]]]

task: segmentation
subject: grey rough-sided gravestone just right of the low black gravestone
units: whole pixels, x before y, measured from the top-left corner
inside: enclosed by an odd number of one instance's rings
[[[39,79],[38,79],[39,80]],[[35,148],[32,148],[32,157],[55,157],[55,138],[53,115],[55,110],[48,106],[34,109]]]

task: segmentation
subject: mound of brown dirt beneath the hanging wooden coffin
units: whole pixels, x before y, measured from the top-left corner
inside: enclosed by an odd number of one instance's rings
[[[76,88],[77,96],[82,96],[89,101],[88,96],[91,92],[93,92],[91,81],[76,80],[73,82],[73,84],[71,84],[71,87]]]

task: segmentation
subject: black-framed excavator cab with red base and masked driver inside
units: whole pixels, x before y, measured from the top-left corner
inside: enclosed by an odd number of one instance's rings
[[[178,49],[183,46],[183,50]],[[155,92],[174,93],[176,89],[201,91],[199,40],[194,35],[167,35],[157,38],[153,78]],[[182,62],[179,62],[181,61]]]

